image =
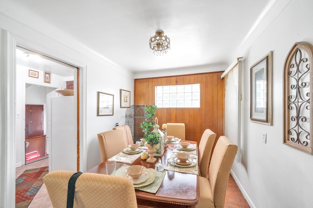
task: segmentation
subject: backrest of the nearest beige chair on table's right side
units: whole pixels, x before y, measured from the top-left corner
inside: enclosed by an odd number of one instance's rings
[[[220,136],[215,145],[209,168],[209,182],[216,208],[224,208],[227,183],[237,149],[237,145],[232,144],[226,136]]]

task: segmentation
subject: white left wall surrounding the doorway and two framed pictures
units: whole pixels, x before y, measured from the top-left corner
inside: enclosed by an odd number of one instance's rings
[[[16,131],[13,131],[12,127],[16,127],[15,117],[17,109],[21,109],[21,106],[18,108],[18,103],[13,104],[13,100],[17,96],[14,73],[16,66],[10,58],[14,56],[15,49],[12,50],[14,40],[17,41],[18,45],[27,46],[83,69],[84,81],[81,83],[81,96],[84,97],[84,101],[80,104],[85,126],[82,129],[81,136],[86,141],[87,159],[82,171],[89,170],[101,162],[97,133],[112,130],[116,122],[121,125],[125,123],[124,114],[126,109],[119,107],[119,90],[128,90],[131,91],[131,95],[134,95],[134,79],[130,72],[104,57],[93,54],[86,46],[75,42],[74,38],[68,37],[62,31],[57,29],[50,31],[53,26],[49,26],[45,22],[42,26],[38,26],[36,30],[33,30],[27,27],[26,24],[21,24],[0,14],[0,159],[2,161],[0,166],[0,192],[6,193],[1,194],[0,207],[13,207],[15,195]],[[46,27],[50,29],[49,33],[44,35]],[[8,54],[9,56],[7,56]],[[113,116],[97,116],[97,91],[114,95]],[[131,104],[133,104],[133,101],[134,98],[132,97]],[[2,116],[2,113],[4,113],[4,116]],[[18,128],[21,128],[21,126]]]

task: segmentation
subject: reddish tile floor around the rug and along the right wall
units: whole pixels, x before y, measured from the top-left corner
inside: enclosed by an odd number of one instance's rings
[[[25,170],[48,166],[48,158],[16,168],[18,178]],[[45,184],[28,206],[28,208],[53,208]],[[224,208],[250,208],[233,177],[230,175],[225,196]]]

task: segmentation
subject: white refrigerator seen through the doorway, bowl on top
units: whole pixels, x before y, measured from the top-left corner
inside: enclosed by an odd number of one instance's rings
[[[49,171],[77,171],[77,114],[74,96],[51,97]]]

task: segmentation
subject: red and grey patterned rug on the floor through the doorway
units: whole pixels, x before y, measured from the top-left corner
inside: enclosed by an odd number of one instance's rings
[[[38,190],[43,185],[43,177],[48,167],[25,170],[15,180],[15,207],[27,208]]]

